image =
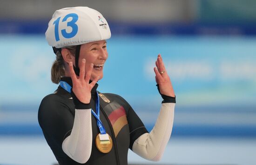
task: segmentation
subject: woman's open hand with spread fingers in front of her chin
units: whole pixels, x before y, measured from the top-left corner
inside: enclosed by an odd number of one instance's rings
[[[72,91],[74,92],[77,99],[79,99],[82,103],[90,103],[91,90],[100,78],[100,76],[98,76],[91,83],[89,83],[94,65],[90,64],[90,67],[85,75],[85,59],[82,59],[79,77],[76,76],[76,74],[74,73],[73,63],[69,62],[68,66],[70,70],[70,76],[73,82]]]

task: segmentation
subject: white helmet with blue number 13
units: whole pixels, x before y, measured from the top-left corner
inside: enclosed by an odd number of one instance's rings
[[[107,20],[89,7],[67,7],[56,10],[45,33],[50,46],[61,48],[111,37]]]

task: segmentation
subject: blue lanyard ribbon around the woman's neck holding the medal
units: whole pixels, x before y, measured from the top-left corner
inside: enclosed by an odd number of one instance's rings
[[[65,89],[67,92],[71,92],[71,86],[69,84],[67,84],[67,82],[65,81],[60,81],[60,86]],[[100,119],[100,98],[99,98],[99,94],[97,93],[97,98],[96,98],[96,113],[93,111],[93,109],[91,109],[92,114],[94,115],[94,117],[97,119],[97,125],[100,129],[101,134],[106,134],[106,130],[101,122]]]

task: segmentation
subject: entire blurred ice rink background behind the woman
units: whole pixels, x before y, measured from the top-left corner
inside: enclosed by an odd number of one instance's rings
[[[162,54],[177,104],[162,160],[130,164],[256,165],[255,0],[0,0],[0,164],[53,165],[37,122],[54,92],[44,33],[55,10],[88,6],[112,37],[100,92],[128,100],[150,131],[160,109],[154,61]]]

